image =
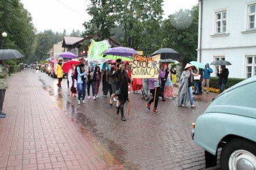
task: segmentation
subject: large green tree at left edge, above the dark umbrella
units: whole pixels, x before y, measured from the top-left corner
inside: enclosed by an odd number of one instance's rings
[[[16,62],[23,62],[34,51],[35,28],[30,13],[18,0],[0,1],[0,31],[6,31],[3,48],[17,49],[25,57]]]

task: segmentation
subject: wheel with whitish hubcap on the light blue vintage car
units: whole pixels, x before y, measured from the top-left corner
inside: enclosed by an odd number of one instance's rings
[[[232,139],[223,147],[220,159],[222,170],[256,169],[256,143],[247,139]]]

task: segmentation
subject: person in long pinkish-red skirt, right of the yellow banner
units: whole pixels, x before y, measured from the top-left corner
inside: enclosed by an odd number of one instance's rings
[[[172,99],[175,99],[176,96],[173,93],[173,84],[172,84],[172,74],[176,75],[176,68],[172,69],[172,65],[169,64],[168,68],[165,70],[165,89],[163,91],[163,95],[166,97],[172,97]]]

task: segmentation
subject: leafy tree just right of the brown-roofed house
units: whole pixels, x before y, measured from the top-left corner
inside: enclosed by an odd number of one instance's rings
[[[85,36],[97,36],[97,40],[111,37],[111,28],[115,28],[115,1],[91,0],[87,8],[88,15],[92,16],[88,22],[84,22]]]

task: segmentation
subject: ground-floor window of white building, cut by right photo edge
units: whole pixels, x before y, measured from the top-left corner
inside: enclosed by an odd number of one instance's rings
[[[246,78],[256,75],[256,56],[246,56]]]

